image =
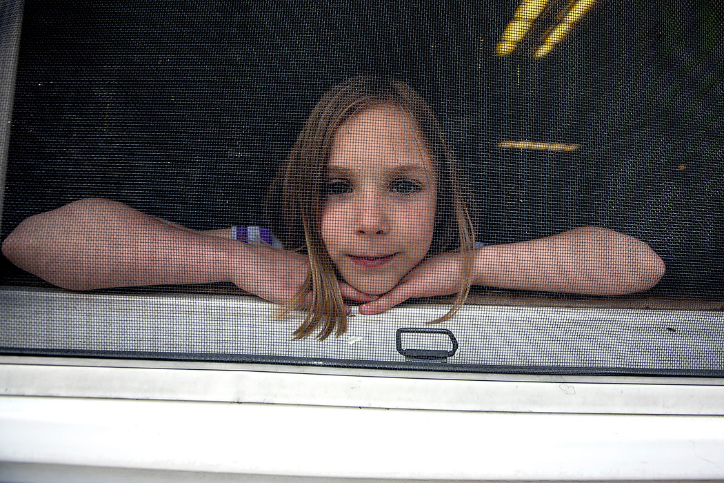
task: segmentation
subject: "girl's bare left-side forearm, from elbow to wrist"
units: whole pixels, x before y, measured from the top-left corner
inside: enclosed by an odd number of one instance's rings
[[[20,268],[73,290],[240,282],[245,277],[228,273],[229,267],[253,265],[256,247],[212,231],[207,235],[122,203],[88,198],[25,219],[2,252]]]

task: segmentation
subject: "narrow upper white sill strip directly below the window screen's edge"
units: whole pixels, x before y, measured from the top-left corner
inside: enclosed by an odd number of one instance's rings
[[[724,415],[724,379],[0,356],[3,395],[521,413]]]

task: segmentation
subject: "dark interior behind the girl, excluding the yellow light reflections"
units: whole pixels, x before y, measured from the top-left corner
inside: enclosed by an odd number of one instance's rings
[[[518,1],[164,3],[25,2],[3,238],[89,196],[195,229],[258,224],[319,96],[378,73],[438,114],[481,240],[608,227],[665,260],[652,293],[721,297],[720,2],[600,1],[540,60],[538,31],[495,55]],[[2,263],[5,282],[20,272]]]

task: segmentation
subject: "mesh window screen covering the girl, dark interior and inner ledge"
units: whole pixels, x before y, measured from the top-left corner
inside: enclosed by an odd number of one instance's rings
[[[723,29],[699,1],[28,1],[1,350],[721,377]]]

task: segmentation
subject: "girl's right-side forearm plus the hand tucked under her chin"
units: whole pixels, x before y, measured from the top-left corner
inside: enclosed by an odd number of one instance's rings
[[[397,287],[360,306],[379,314],[408,298],[450,295],[462,282],[460,253],[423,261]],[[589,295],[648,290],[663,276],[664,262],[649,245],[622,233],[583,227],[547,238],[474,251],[473,285]]]

